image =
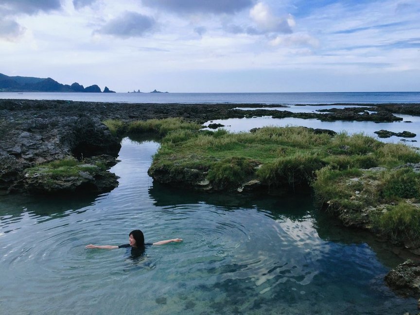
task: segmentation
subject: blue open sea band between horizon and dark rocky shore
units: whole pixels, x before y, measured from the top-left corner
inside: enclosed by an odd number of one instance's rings
[[[420,92],[343,93],[0,93],[0,99],[185,104],[420,103]]]

